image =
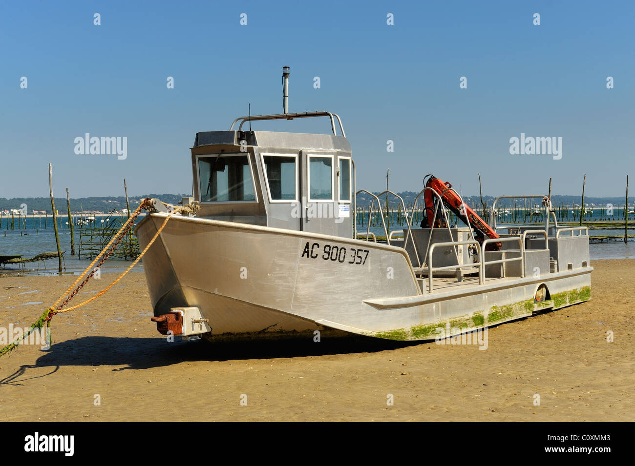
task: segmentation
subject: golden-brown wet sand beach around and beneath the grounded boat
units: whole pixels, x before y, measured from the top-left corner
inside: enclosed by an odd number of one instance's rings
[[[326,337],[168,343],[150,322],[144,275],[131,273],[55,316],[51,351],[0,358],[0,418],[634,421],[635,260],[591,265],[590,302],[490,328],[485,351]],[[73,304],[115,276],[91,280]],[[29,326],[73,279],[0,276],[0,327]]]

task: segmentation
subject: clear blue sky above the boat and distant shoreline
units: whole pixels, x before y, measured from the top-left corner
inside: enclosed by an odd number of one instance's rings
[[[342,117],[358,189],[385,189],[389,168],[395,191],[432,173],[472,195],[481,172],[485,195],[542,193],[550,176],[553,193],[578,194],[586,173],[587,195],[622,195],[634,13],[631,1],[3,2],[0,197],[47,196],[48,162],[60,196],[121,195],[124,177],[131,195],[187,193],[196,132],[229,129],[248,103],[281,112],[284,65],[290,112]],[[128,157],[76,155],[84,133],[125,136]],[[563,138],[562,158],[511,155],[521,133]]]

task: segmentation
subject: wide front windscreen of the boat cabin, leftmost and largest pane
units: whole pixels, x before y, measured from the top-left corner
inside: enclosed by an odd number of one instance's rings
[[[198,162],[202,202],[257,200],[248,155],[211,155],[200,157]]]

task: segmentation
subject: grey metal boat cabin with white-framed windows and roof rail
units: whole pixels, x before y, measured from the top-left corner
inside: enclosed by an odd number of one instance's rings
[[[321,116],[333,134],[242,129],[246,121]],[[191,151],[197,216],[352,238],[354,162],[335,113],[241,117],[229,131],[197,133]]]

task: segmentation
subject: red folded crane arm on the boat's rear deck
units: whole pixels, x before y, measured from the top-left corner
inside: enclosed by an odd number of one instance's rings
[[[427,181],[425,181],[426,178]],[[485,241],[485,236],[492,239],[500,238],[496,231],[485,223],[485,221],[481,219],[474,210],[470,209],[470,207],[461,202],[461,198],[457,195],[456,191],[452,189],[452,185],[450,183],[445,183],[443,180],[436,178],[433,175],[426,176],[424,178],[424,183],[426,188],[431,188],[439,195],[439,197],[441,197],[443,204],[454,212],[458,218],[462,221],[469,221],[469,226],[472,230],[474,230],[474,239],[481,243],[481,245],[483,244],[483,241]],[[434,202],[436,197],[430,190],[425,190],[424,200],[425,217],[421,222],[421,228],[441,228],[443,225],[441,219],[439,219],[439,214],[437,215],[435,225],[432,226],[430,224],[432,222],[432,217],[434,217]],[[485,250],[497,251],[500,250],[500,247],[500,242],[488,243]]]

